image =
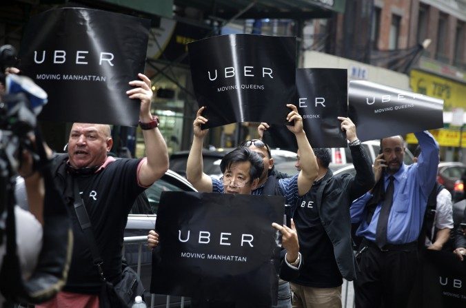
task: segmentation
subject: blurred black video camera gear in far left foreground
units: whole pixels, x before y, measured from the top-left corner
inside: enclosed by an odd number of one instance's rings
[[[65,284],[72,249],[68,212],[54,185],[50,161],[37,127],[37,115],[47,103],[47,93],[27,76],[5,74],[6,68],[15,66],[14,48],[1,46],[0,83],[4,91],[0,92],[0,247],[6,247],[5,256],[0,256],[3,258],[0,293],[6,298],[3,307],[13,307],[17,302],[36,304],[57,294]],[[34,144],[31,133],[35,136]],[[42,247],[37,254],[37,266],[27,280],[19,262],[19,247],[29,243],[26,240],[17,243],[16,225],[25,222],[15,216],[14,210],[14,189],[23,150],[32,154],[34,170],[41,173],[45,186]]]

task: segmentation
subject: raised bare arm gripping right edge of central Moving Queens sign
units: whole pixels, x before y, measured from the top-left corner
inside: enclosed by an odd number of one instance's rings
[[[301,172],[299,172],[298,175],[298,194],[299,196],[303,196],[309,192],[312,183],[314,183],[314,180],[317,178],[318,165],[316,156],[314,156],[314,151],[303,130],[303,118],[298,114],[298,108],[292,104],[287,104],[286,106],[292,110],[292,112],[287,115],[286,119],[290,123],[294,121],[294,125],[287,127],[288,130],[296,136],[296,141],[298,142],[301,164]]]

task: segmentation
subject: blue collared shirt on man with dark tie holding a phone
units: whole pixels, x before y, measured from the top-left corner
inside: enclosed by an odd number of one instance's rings
[[[417,240],[423,224],[427,198],[436,181],[438,143],[429,132],[415,134],[422,149],[418,163],[412,165],[403,163],[400,170],[393,174],[394,197],[387,227],[387,242],[391,244],[405,244]],[[385,189],[389,182],[388,177],[389,174],[385,174]],[[356,235],[375,242],[378,216],[383,202],[378,203],[372,220],[367,224],[365,205],[372,196],[367,192],[356,199],[350,208],[350,213],[352,223],[361,223]]]

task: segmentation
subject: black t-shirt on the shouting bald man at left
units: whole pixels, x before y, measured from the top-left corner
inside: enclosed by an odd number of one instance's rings
[[[88,211],[94,238],[103,258],[105,278],[119,280],[121,276],[121,249],[123,233],[134,199],[145,188],[137,183],[139,159],[118,159],[101,172],[77,176],[81,198]],[[68,174],[68,176],[71,176]],[[94,266],[81,225],[70,206],[73,224],[73,254],[65,291],[98,294],[101,280]]]

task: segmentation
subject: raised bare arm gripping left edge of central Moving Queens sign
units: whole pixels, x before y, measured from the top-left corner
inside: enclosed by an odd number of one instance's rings
[[[205,107],[201,107],[197,111],[196,119],[192,124],[194,137],[186,163],[186,178],[199,192],[212,192],[212,178],[203,172],[202,144],[208,132],[208,130],[201,130],[201,125],[207,123],[207,119],[201,115],[204,109]]]

